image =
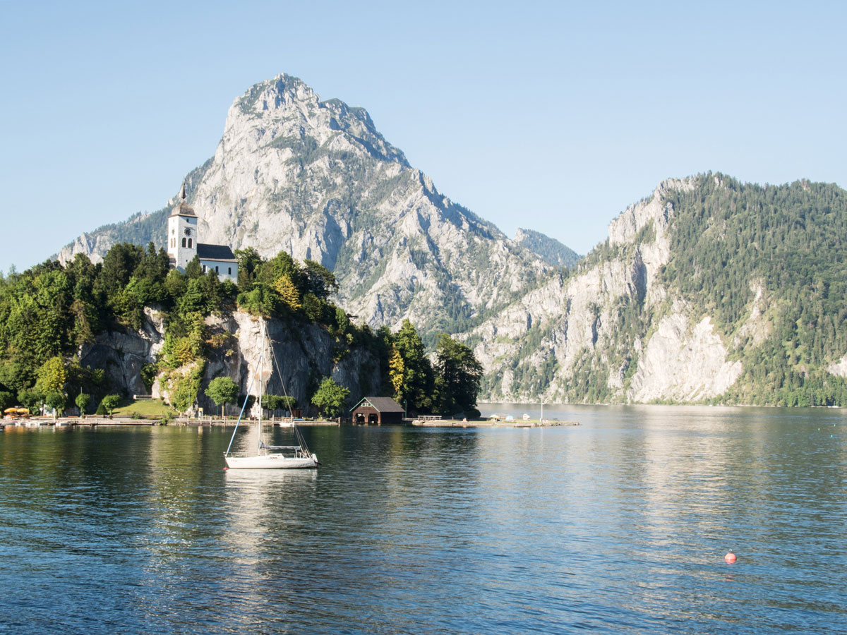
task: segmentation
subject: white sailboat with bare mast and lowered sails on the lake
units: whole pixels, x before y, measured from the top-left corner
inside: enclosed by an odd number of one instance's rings
[[[253,374],[250,386],[247,388],[247,396],[244,400],[244,405],[241,406],[241,412],[238,415],[238,421],[235,422],[235,430],[232,431],[232,439],[230,445],[224,452],[224,461],[226,467],[230,470],[291,470],[302,469],[308,467],[318,467],[318,456],[309,451],[306,441],[303,440],[300,430],[292,425],[296,437],[296,445],[268,445],[263,439],[262,426],[262,379],[263,367],[265,362],[265,323],[262,323],[262,351],[259,354],[257,371]],[[273,356],[273,351],[271,352]],[[274,357],[274,364],[276,359]],[[279,372],[279,366],[277,366]],[[247,406],[247,400],[250,398],[250,389],[252,384],[259,378],[258,393],[259,393],[259,418],[256,432],[256,444],[251,444],[253,450],[247,456],[235,456],[232,454],[232,443],[235,440],[235,434],[238,433],[238,426],[241,424],[241,419],[244,417],[244,411]]]

